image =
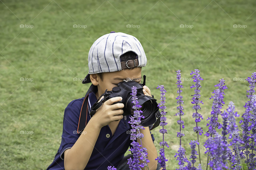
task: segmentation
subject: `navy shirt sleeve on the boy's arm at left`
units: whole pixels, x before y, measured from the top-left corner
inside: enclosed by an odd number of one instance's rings
[[[80,134],[77,133],[78,121],[80,111],[78,108],[67,106],[63,117],[63,131],[61,136],[61,145],[59,153],[62,160],[64,160],[64,151],[71,148]]]

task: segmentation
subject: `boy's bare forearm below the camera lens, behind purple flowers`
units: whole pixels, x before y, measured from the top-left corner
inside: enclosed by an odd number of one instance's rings
[[[144,137],[142,139],[137,138],[137,142],[139,145],[141,145],[142,142],[142,147],[147,148],[147,159],[150,160],[148,164],[150,170],[155,170],[157,169],[157,149],[155,148],[155,145],[152,141],[151,134],[149,131],[149,127],[144,127],[145,129],[140,129],[140,133],[143,133]],[[139,159],[140,163],[143,163],[142,160]],[[144,169],[144,168],[141,168]]]

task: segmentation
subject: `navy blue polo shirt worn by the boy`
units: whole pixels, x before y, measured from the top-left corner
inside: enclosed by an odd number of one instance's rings
[[[89,88],[89,100],[87,107],[87,123],[90,121],[90,108],[97,101],[95,96],[97,92],[97,86],[91,84]],[[87,93],[89,92],[87,91]],[[65,111],[63,118],[63,132],[59,149],[55,155],[53,162],[46,170],[61,170],[64,169],[64,151],[71,148],[81,134],[77,133],[78,122],[82,103],[85,97],[71,101]],[[94,145],[93,152],[85,167],[86,170],[101,170],[107,169],[108,166],[115,166],[122,160],[125,152],[131,147],[130,130],[131,125],[128,123],[130,116],[124,116],[120,120],[117,129],[112,136],[109,125],[103,126],[99,133],[98,139]],[[91,129],[93,130],[93,129]],[[150,132],[151,134],[151,132]],[[155,138],[151,134],[154,142]],[[137,139],[135,140],[137,141]]]

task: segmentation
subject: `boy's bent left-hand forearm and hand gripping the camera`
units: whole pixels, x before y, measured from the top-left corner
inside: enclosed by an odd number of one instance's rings
[[[123,118],[123,110],[121,108],[124,107],[124,104],[113,104],[114,102],[121,100],[121,97],[113,97],[105,101],[101,107],[97,109],[74,145],[70,149],[64,151],[64,167],[66,170],[85,169],[101,128],[108,125],[110,122],[121,120]]]

